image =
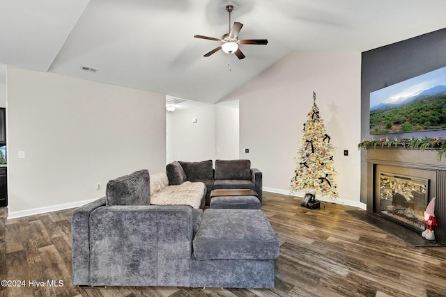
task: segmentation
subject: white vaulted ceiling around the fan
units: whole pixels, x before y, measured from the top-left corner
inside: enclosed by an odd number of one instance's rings
[[[194,38],[227,33],[223,0],[0,0],[0,66],[215,103],[292,50],[367,51],[446,27],[445,0],[233,2],[238,37],[269,40],[241,45],[240,61],[205,58],[219,43]]]

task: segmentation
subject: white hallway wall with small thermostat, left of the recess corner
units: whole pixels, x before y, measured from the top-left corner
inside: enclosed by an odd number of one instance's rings
[[[215,106],[169,113],[167,143],[167,163],[215,159]]]

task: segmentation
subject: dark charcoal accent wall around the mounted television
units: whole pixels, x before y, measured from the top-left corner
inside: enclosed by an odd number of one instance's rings
[[[361,65],[361,139],[369,134],[369,94],[374,90],[405,81],[446,66],[446,29],[371,49],[362,53]],[[437,136],[446,131],[422,131],[398,134],[399,137]],[[394,134],[386,134],[394,138]],[[383,136],[383,137],[385,137]],[[374,138],[380,138],[374,135]],[[361,202],[367,203],[367,151],[361,151]]]

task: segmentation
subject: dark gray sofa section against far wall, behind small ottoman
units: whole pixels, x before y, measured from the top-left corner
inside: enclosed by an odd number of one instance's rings
[[[183,182],[203,182],[206,184],[206,204],[210,204],[210,191],[214,189],[247,188],[256,191],[262,202],[262,172],[251,168],[251,161],[212,160],[201,162],[174,161],[166,166],[169,185]]]

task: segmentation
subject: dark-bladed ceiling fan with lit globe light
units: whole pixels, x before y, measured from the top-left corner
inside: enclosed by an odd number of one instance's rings
[[[208,40],[214,40],[218,42],[222,42],[222,45],[220,47],[216,47],[212,51],[209,51],[207,54],[204,54],[203,56],[208,57],[212,54],[214,54],[217,51],[220,51],[222,49],[226,54],[236,54],[237,58],[240,60],[245,58],[245,55],[242,51],[238,48],[238,45],[266,45],[268,44],[268,40],[266,39],[238,39],[238,33],[243,27],[242,23],[234,22],[232,28],[231,28],[231,12],[234,9],[232,5],[226,6],[226,11],[229,13],[229,33],[226,33],[222,36],[221,39],[219,38],[213,38],[203,35],[195,35],[194,38],[202,38],[202,39],[208,39]]]

